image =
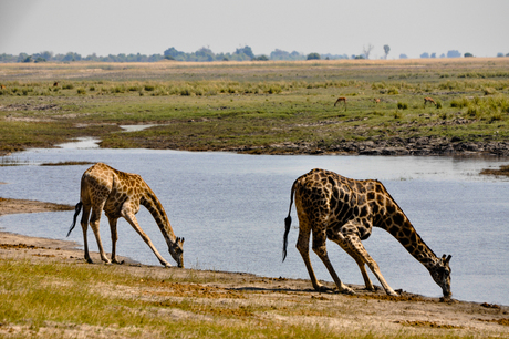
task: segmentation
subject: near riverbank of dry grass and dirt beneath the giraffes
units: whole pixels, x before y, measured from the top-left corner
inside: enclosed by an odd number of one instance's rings
[[[12,210],[2,203],[0,215]],[[32,207],[52,208],[42,204]],[[29,204],[18,210],[30,212]],[[7,300],[0,306],[0,336],[509,337],[507,306],[440,302],[405,291],[395,298],[362,286],[351,286],[356,296],[319,294],[308,279],[168,269],[128,258],[104,265],[96,253],[89,265],[76,246],[0,233],[0,295]]]

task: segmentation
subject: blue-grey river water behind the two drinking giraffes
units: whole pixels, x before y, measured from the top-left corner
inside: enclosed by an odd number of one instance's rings
[[[62,148],[31,150],[12,156],[28,166],[0,167],[0,196],[76,204],[85,166],[37,166],[64,161],[105,162],[138,173],[162,201],[175,234],[185,237],[188,268],[249,271],[269,277],[305,278],[308,273],[294,247],[292,227],[288,257],[281,263],[283,219],[293,181],[314,167],[353,178],[377,178],[405,210],[426,244],[438,255],[451,254],[454,297],[509,305],[505,178],[479,176],[482,168],[507,163],[496,158],[381,156],[264,156],[231,153],[190,153],[150,150],[100,150],[94,140]],[[8,215],[4,230],[29,236],[83,243],[77,227],[65,238],[73,212]],[[294,206],[293,226],[298,225]],[[174,263],[154,219],[145,208],[137,215],[159,253]],[[111,249],[106,217],[102,239]],[[159,265],[148,246],[124,219],[118,220],[120,255]],[[91,250],[95,239],[89,232]],[[442,290],[427,270],[389,234],[375,228],[364,242],[394,289],[439,297]],[[363,284],[355,261],[337,245],[329,255],[346,284]],[[331,281],[321,260],[311,253],[319,279]],[[372,280],[380,285],[371,275]],[[311,284],[310,284],[311,287]]]

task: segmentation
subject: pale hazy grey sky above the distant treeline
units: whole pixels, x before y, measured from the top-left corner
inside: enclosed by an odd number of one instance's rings
[[[509,0],[0,0],[0,54],[509,53]]]

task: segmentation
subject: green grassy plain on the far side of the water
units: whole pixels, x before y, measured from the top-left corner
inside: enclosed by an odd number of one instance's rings
[[[251,153],[420,136],[509,141],[509,58],[17,63],[0,64],[0,75],[4,152],[77,136],[103,147]],[[337,96],[346,105],[334,106]],[[159,125],[116,133],[148,123]]]

